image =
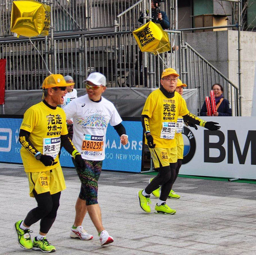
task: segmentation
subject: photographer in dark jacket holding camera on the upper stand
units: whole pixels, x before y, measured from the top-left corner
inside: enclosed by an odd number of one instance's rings
[[[156,24],[160,24],[163,29],[168,29],[170,27],[169,19],[165,11],[160,11],[160,3],[165,2],[165,0],[151,0],[151,17],[152,21]],[[147,10],[147,15],[149,10]],[[149,20],[147,20],[148,22]],[[143,24],[143,13],[139,17],[139,22]]]

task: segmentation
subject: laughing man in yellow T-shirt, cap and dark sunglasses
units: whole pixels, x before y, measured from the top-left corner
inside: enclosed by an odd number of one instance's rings
[[[66,188],[58,159],[60,144],[72,154],[77,164],[84,167],[81,154],[68,138],[65,112],[57,107],[63,104],[66,86],[62,75],[47,76],[43,82],[44,100],[27,109],[21,124],[21,158],[28,176],[30,196],[35,197],[38,204],[24,220],[14,224],[19,245],[24,249],[46,253],[56,250],[47,241],[46,234],[57,215],[60,193]],[[29,228],[38,220],[41,220],[40,231],[32,242]]]

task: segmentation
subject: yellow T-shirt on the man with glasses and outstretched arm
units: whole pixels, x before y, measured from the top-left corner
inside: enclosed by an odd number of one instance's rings
[[[157,89],[148,96],[141,114],[149,116],[150,133],[156,147],[173,148],[176,146],[174,135],[178,116],[188,113],[186,101],[179,93],[175,91],[173,98],[167,98],[160,89]],[[167,129],[172,129],[174,133],[164,135]],[[145,143],[147,144],[146,139]]]

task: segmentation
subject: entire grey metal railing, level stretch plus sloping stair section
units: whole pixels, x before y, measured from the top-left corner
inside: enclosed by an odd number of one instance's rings
[[[172,46],[179,50],[152,55],[152,76],[144,65],[142,52],[132,31],[81,34],[54,37],[54,47],[46,38],[32,39],[43,56],[47,68],[54,73],[71,75],[77,88],[90,72],[102,72],[108,87],[151,87],[160,85],[164,68],[172,67],[181,74],[188,88],[198,88],[198,108],[217,82],[224,88],[224,97],[232,104],[233,115],[239,115],[238,88],[212,66],[189,44],[181,44],[181,32],[168,31]],[[149,58],[149,54],[147,54]],[[28,39],[0,41],[0,58],[6,58],[6,90],[40,89],[49,74],[42,57]],[[147,62],[149,63],[149,62]]]

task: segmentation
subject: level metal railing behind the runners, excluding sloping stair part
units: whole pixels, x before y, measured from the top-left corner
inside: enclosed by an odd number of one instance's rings
[[[180,32],[173,31],[173,43],[179,45]],[[6,58],[6,90],[40,89],[49,73],[71,75],[77,88],[90,72],[102,72],[109,87],[157,87],[163,68],[179,69],[180,51],[153,55],[153,79],[147,80],[144,66],[132,31],[58,36],[51,39],[34,38],[0,41],[0,58]],[[46,64],[43,61],[46,62]],[[47,66],[47,68],[46,68]]]

